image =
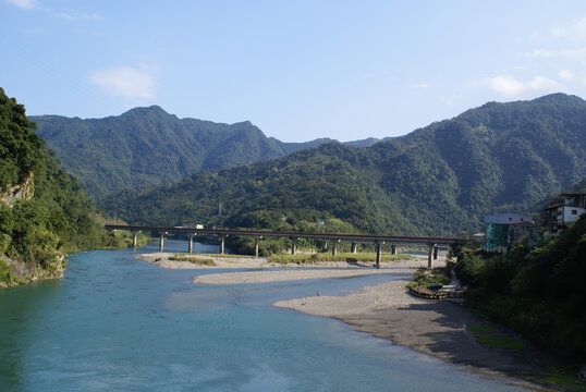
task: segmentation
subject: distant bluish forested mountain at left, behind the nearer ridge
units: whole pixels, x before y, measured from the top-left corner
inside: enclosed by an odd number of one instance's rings
[[[202,170],[220,170],[283,157],[332,139],[283,143],[249,122],[220,124],[178,119],[157,106],[106,119],[32,117],[37,134],[56,151],[94,200],[105,195],[179,181]],[[354,142],[371,145],[369,138]]]

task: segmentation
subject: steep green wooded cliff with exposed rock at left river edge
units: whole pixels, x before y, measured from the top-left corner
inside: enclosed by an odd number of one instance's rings
[[[0,88],[0,285],[63,273],[69,252],[123,246]]]

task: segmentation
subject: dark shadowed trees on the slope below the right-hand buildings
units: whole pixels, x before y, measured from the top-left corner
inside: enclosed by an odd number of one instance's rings
[[[537,249],[454,255],[468,306],[557,356],[586,360],[586,215]]]

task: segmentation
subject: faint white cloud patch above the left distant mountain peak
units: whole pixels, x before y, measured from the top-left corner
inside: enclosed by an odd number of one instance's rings
[[[91,82],[112,95],[126,98],[154,98],[155,77],[151,66],[119,66],[96,71]]]

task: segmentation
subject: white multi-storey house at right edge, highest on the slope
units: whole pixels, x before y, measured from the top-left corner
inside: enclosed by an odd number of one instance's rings
[[[558,235],[569,225],[577,222],[586,212],[586,194],[565,193],[556,197],[541,217],[546,232]]]

